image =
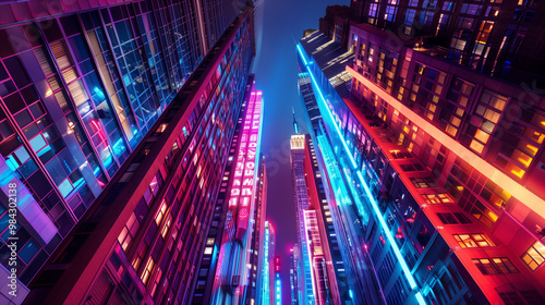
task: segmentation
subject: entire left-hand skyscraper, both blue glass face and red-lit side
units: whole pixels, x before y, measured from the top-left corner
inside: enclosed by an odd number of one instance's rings
[[[28,304],[192,298],[253,51],[251,9],[235,19],[216,1],[202,23],[195,2],[2,5],[2,194],[17,185],[21,224],[13,303],[28,283]],[[206,33],[220,34],[215,48]]]

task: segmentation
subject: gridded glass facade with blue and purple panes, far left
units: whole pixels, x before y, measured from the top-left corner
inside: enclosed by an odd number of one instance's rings
[[[216,1],[217,15],[199,1],[11,2],[0,4],[0,217],[9,218],[8,185],[15,184],[20,291],[0,303],[20,304],[48,257],[156,132],[207,53],[207,33],[223,33],[238,11],[228,1]],[[8,266],[8,222],[0,227]]]

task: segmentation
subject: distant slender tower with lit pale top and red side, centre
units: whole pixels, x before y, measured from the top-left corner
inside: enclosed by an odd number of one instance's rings
[[[300,89],[310,89],[303,87],[306,83],[301,77],[300,75]],[[303,99],[310,97],[307,94],[303,94]],[[311,102],[307,105],[313,107]],[[299,290],[294,291],[293,297],[300,304],[339,304],[350,301],[344,263],[338,246],[338,235],[331,215],[331,209],[336,205],[334,202],[328,202],[326,197],[325,183],[312,138],[308,135],[295,134],[292,135],[291,141],[292,171],[296,183],[295,196],[302,203],[306,203],[304,206],[298,206],[298,216],[299,212],[303,215],[301,219],[298,219],[301,221],[299,225],[302,225],[299,242],[305,245],[306,249],[293,247],[295,253],[292,269],[298,276],[293,286]],[[301,259],[305,254],[307,263]],[[303,297],[303,293],[307,296]]]

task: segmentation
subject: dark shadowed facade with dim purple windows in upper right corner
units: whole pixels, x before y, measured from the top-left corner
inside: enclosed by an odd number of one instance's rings
[[[350,9],[354,23],[416,38],[419,47],[457,65],[513,81],[543,75],[540,1],[356,0]]]

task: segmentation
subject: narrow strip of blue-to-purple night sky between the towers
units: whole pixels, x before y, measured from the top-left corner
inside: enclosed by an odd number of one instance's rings
[[[290,304],[289,248],[296,243],[295,206],[290,168],[292,107],[300,130],[306,131],[298,94],[295,41],[307,28],[318,29],[326,7],[349,1],[265,0],[263,45],[255,84],[265,103],[262,151],[267,163],[267,219],[276,230],[276,253],[282,258],[282,304]]]

